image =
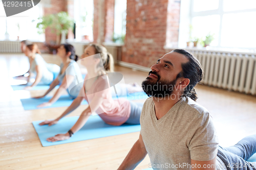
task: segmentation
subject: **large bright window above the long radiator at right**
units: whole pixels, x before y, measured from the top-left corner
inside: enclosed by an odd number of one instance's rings
[[[215,38],[211,46],[255,48],[255,20],[255,0],[181,1],[179,46],[195,37],[204,39],[211,33]]]

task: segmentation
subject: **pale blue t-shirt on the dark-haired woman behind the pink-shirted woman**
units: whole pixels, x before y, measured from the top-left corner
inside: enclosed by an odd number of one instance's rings
[[[66,75],[74,76],[74,80],[69,85],[67,91],[71,96],[76,97],[76,96],[78,96],[79,91],[83,85],[83,78],[82,78],[80,67],[74,60],[71,60],[67,69],[61,74],[61,70],[62,70],[63,66],[64,66],[64,64],[61,63],[58,80],[60,83],[62,83],[62,81]]]

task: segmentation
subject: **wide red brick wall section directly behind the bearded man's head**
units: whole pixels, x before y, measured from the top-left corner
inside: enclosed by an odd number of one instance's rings
[[[172,15],[172,10],[168,10],[168,6],[172,4],[178,8],[179,5],[176,3],[180,4],[179,1],[170,0],[127,0],[122,61],[150,67],[168,52],[163,48],[166,38],[170,38],[168,42],[178,43],[177,27],[173,29],[173,25],[167,23],[167,19],[169,22],[170,18],[177,20],[177,17]],[[172,34],[166,36],[169,30]]]

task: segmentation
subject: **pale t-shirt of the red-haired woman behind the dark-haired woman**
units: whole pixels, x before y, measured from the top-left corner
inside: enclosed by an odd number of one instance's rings
[[[43,84],[51,84],[54,78],[53,72],[59,72],[59,66],[56,64],[47,63],[39,54],[35,55],[29,71],[36,75],[35,66],[40,65],[42,71],[42,78],[40,80]]]

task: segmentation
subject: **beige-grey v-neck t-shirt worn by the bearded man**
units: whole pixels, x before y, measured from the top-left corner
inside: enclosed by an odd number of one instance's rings
[[[212,117],[190,98],[183,97],[159,120],[148,98],[140,124],[153,169],[191,169],[190,159],[208,161],[217,155],[219,142]]]

